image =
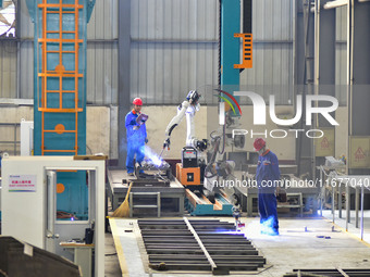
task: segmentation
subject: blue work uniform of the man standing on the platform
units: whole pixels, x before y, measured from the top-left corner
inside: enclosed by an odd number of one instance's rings
[[[136,154],[136,162],[141,163],[145,156],[145,140],[147,138],[147,127],[144,124],[139,125],[136,118],[139,113],[135,110],[126,114],[125,126],[127,129],[127,158],[126,168],[127,173],[134,172],[134,158]]]

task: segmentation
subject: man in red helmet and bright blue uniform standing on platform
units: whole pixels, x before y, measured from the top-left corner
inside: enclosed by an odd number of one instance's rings
[[[128,176],[134,175],[134,158],[139,164],[145,156],[145,143],[147,139],[147,127],[145,125],[147,115],[141,114],[143,100],[135,98],[133,101],[134,109],[127,113],[125,117],[125,126],[127,129],[127,159],[126,168]]]

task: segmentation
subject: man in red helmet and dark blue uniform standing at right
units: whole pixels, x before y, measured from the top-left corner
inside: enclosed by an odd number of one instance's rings
[[[279,235],[279,221],[275,190],[280,182],[279,161],[276,155],[267,148],[264,139],[257,138],[254,147],[259,154],[256,180],[261,232],[276,236]]]

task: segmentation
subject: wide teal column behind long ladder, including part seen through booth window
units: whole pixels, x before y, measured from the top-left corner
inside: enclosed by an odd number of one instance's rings
[[[74,4],[74,0],[48,0],[48,3],[69,3]],[[42,29],[42,24],[45,22],[42,21],[42,13],[40,9],[38,8],[38,4],[42,3],[42,0],[26,0],[26,4],[28,8],[29,16],[32,18],[32,22],[35,24],[35,42],[34,42],[34,149],[35,154],[40,154],[40,143],[41,143],[41,112],[38,110],[40,108],[39,103],[39,91],[41,89],[41,79],[38,76],[40,72],[40,66],[42,64],[42,55],[41,55],[41,46],[38,41],[38,38],[41,37],[42,33],[40,30]],[[82,39],[83,42],[79,45],[79,51],[78,51],[78,74],[84,74],[83,77],[78,78],[78,108],[82,108],[83,111],[78,112],[78,154],[85,154],[86,153],[86,33],[87,33],[87,23],[90,18],[95,0],[79,0],[79,4],[84,5],[83,10],[78,12],[78,39]],[[59,16],[57,14],[57,16]],[[51,22],[49,22],[49,20]],[[48,24],[50,23],[50,26],[58,26],[58,18],[50,16],[47,17]],[[49,26],[49,25],[48,25]],[[65,21],[63,18],[63,28],[66,28],[67,30],[74,30],[75,24],[74,20],[71,20],[69,16],[66,16]],[[67,36],[67,35],[65,35]],[[73,39],[73,38],[71,38]],[[52,43],[51,43],[52,45]],[[55,43],[54,43],[55,45]],[[48,45],[49,46],[49,45]],[[70,46],[69,46],[70,47]],[[50,46],[52,48],[52,46]],[[63,50],[71,50],[71,49],[64,49],[64,46],[62,48]],[[53,49],[48,49],[53,50]],[[48,60],[48,66],[50,64],[55,63],[55,59],[51,58]],[[63,66],[65,68],[69,68],[73,66],[74,59],[71,59],[70,56],[63,56]],[[64,77],[63,77],[64,78]],[[52,84],[51,84],[52,83]],[[71,85],[70,83],[65,81],[63,79],[63,90],[69,90],[65,86],[74,87],[74,85]],[[49,83],[48,83],[49,84]],[[54,87],[55,80],[50,81],[51,85]],[[48,85],[49,86],[49,85]],[[48,88],[50,89],[50,88]],[[49,101],[52,100],[53,97],[50,97],[48,99]],[[48,101],[48,104],[50,104]],[[74,101],[71,99],[71,97],[63,98],[63,104],[64,102],[71,103],[71,101]],[[50,101],[51,102],[51,101]],[[52,103],[52,102],[51,102]],[[66,122],[67,124],[71,124],[71,118],[69,118],[69,113],[51,113],[50,117],[48,117],[50,121],[48,122],[49,126],[48,129],[51,128],[55,123],[60,122]],[[71,116],[70,116],[71,117]],[[74,121],[72,118],[72,121]],[[57,146],[55,149],[59,149],[60,144],[63,143],[70,143],[71,137],[63,137],[61,139],[61,135],[53,134],[53,136],[50,137],[50,139],[47,140],[46,143],[48,143],[48,147],[50,146]],[[73,143],[75,138],[72,137]],[[54,149],[54,148],[51,148]],[[63,153],[51,153],[53,155],[63,154]],[[64,153],[65,154],[65,153]],[[72,154],[72,153],[70,153]],[[88,188],[86,186],[86,172],[84,171],[77,171],[77,172],[58,172],[57,173],[57,182],[63,184],[65,187],[65,191],[63,193],[58,193],[57,196],[57,210],[58,211],[65,211],[72,214],[77,215],[79,219],[85,219],[88,214]]]

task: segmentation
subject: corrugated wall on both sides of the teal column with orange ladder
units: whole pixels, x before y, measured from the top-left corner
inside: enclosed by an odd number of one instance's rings
[[[34,95],[34,24],[30,22],[25,0],[20,0],[20,95],[17,96],[15,74],[16,42],[10,46],[8,41],[4,47],[4,42],[0,40],[0,97],[32,99]],[[88,103],[99,105],[118,103],[116,16],[118,0],[96,2],[87,33]]]

